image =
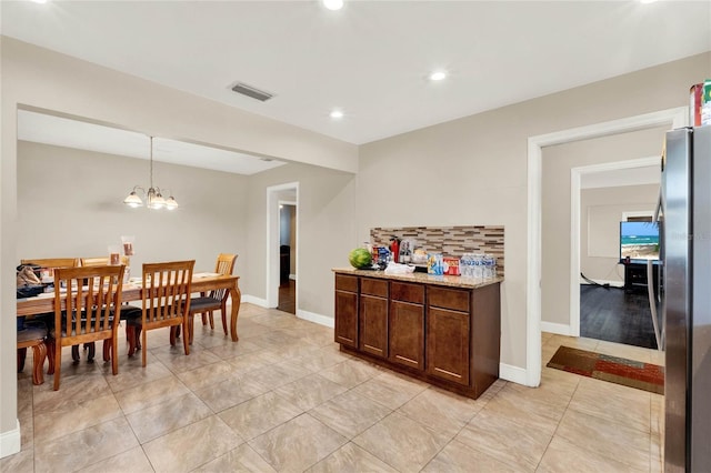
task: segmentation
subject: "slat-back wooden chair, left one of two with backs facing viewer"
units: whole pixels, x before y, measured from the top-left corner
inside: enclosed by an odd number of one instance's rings
[[[59,390],[62,348],[103,340],[103,361],[119,372],[117,311],[124,266],[54,270],[54,391]],[[73,356],[72,356],[73,358]]]

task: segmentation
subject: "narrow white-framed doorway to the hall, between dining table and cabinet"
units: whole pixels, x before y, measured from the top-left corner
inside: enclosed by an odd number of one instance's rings
[[[294,314],[299,306],[298,208],[298,182],[267,188],[267,306]]]

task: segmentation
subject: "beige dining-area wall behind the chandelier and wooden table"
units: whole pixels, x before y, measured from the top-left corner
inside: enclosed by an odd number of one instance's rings
[[[109,244],[134,235],[133,275],[143,262],[181,259],[194,259],[196,271],[212,271],[218,253],[240,254],[236,274],[243,274],[248,178],[162,162],[153,169],[179,209],[121,202],[134,184],[148,185],[146,160],[20,141],[16,261],[108,255]]]

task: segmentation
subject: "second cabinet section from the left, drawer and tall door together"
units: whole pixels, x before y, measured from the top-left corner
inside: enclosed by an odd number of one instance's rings
[[[359,302],[359,349],[388,358],[388,281],[361,278]]]

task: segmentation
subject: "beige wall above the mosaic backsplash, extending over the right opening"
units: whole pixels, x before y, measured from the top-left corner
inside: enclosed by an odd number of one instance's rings
[[[710,74],[711,54],[700,54],[362,145],[358,241],[371,227],[504,225],[501,361],[520,372],[527,365],[528,138],[683,107],[689,85]],[[650,147],[659,153],[659,135]]]

